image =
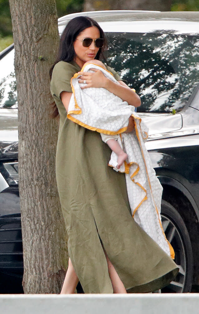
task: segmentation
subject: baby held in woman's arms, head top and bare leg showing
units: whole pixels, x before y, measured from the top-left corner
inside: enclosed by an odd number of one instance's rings
[[[107,70],[105,68],[104,64],[101,61],[99,61],[99,60],[87,61],[85,63],[85,65],[93,63],[93,62],[96,65],[98,65],[98,66],[104,68],[105,70]],[[102,137],[102,141],[104,143],[107,143],[107,145],[110,147],[110,149],[117,155],[117,165],[114,165],[113,169],[118,171],[118,169],[121,167],[123,162],[128,158],[128,155],[123,151],[123,149],[121,148],[120,144],[118,143],[119,134],[117,134],[117,135],[107,135],[107,134],[100,133],[100,135]]]

